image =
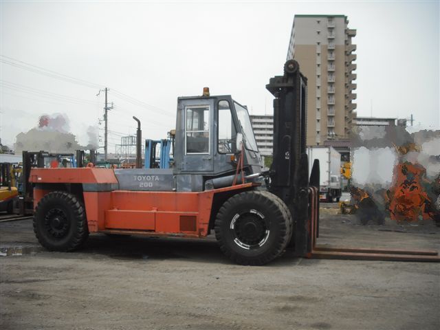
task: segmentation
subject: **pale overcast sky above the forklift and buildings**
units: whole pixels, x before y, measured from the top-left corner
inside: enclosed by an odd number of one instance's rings
[[[87,127],[98,126],[103,113],[95,85],[109,87],[115,105],[109,152],[121,135],[135,133],[132,115],[144,138],[166,137],[177,97],[200,95],[205,86],[212,95],[232,94],[253,114],[271,113],[265,85],[283,73],[295,14],[349,17],[358,32],[358,115],[412,113],[416,124],[440,125],[439,1],[1,1],[1,141],[12,145],[43,113],[65,113],[87,144]]]

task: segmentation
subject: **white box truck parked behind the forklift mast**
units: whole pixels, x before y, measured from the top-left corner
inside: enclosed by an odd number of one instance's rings
[[[319,159],[320,169],[320,200],[333,202],[339,201],[342,194],[341,185],[341,154],[331,146],[308,146],[309,173],[314,159]]]

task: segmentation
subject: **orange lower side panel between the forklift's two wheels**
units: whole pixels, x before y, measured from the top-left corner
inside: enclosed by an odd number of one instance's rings
[[[240,184],[203,192],[85,192],[89,231],[142,230],[151,234],[206,236],[214,194],[251,186]]]

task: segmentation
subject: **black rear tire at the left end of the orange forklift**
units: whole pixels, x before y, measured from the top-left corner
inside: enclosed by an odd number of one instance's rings
[[[54,233],[58,229],[50,224],[54,212],[61,214],[62,225],[65,225],[58,233]],[[74,251],[89,236],[83,203],[69,192],[54,191],[45,195],[36,206],[33,223],[36,238],[51,251]]]

